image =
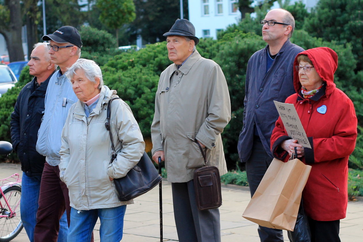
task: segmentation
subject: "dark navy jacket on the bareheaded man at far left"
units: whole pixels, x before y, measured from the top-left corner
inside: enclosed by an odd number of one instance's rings
[[[54,73],[54,72],[53,72]],[[35,145],[38,129],[44,114],[44,98],[48,87],[48,77],[41,86],[36,86],[36,77],[21,89],[14,111],[11,114],[11,140],[13,149],[21,162],[21,170],[27,176],[41,175],[45,156],[40,155]]]

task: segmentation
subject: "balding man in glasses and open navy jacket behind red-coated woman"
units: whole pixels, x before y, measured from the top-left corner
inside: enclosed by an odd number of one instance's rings
[[[251,197],[269,167],[273,156],[270,138],[278,112],[273,100],[284,102],[295,92],[293,62],[303,48],[292,44],[290,37],[295,20],[285,9],[272,9],[261,20],[266,47],[254,53],[246,72],[243,128],[238,140],[238,154],[246,162]],[[281,230],[259,226],[261,241],[282,242]]]

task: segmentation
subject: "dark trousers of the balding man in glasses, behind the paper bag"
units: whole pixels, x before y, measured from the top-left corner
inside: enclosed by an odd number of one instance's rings
[[[267,168],[272,162],[272,157],[269,156],[260,138],[254,137],[252,153],[246,162],[247,180],[250,188],[251,197],[256,191],[258,185],[264,177]],[[268,201],[266,201],[268,202]],[[261,242],[283,242],[284,236],[281,229],[270,229],[267,227],[258,226],[258,235]]]

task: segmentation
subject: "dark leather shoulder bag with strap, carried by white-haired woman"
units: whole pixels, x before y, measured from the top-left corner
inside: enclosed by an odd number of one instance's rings
[[[114,99],[119,98],[113,98],[109,101],[107,107],[107,123],[105,123],[111,139],[112,156],[110,163],[112,163],[117,156],[110,130],[111,102]],[[114,179],[114,183],[118,199],[121,202],[125,202],[150,191],[158,185],[161,180],[162,177],[159,175],[158,170],[156,170],[149,156],[146,152],[144,152],[140,161],[129,172],[127,172],[126,176]]]

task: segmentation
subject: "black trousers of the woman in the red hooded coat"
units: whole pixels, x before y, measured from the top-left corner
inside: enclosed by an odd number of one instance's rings
[[[340,242],[340,220],[317,221],[308,217],[308,221],[311,231],[311,242]]]

